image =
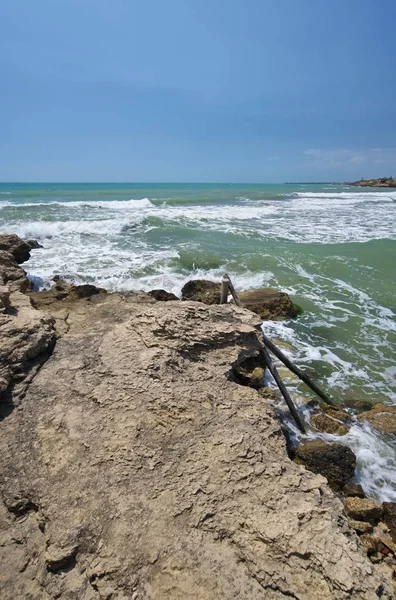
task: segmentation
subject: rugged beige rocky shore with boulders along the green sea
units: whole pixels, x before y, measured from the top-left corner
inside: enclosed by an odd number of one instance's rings
[[[33,292],[30,248],[0,236],[2,598],[393,597],[395,506],[348,484],[342,444],[288,448],[262,387],[287,295]]]

